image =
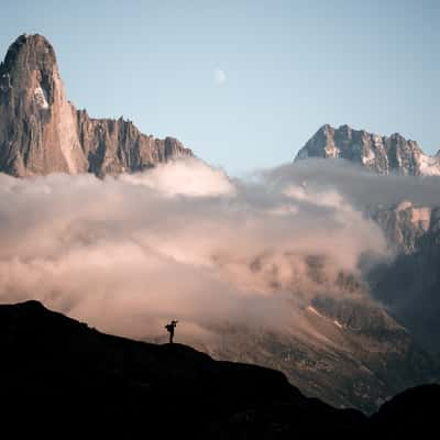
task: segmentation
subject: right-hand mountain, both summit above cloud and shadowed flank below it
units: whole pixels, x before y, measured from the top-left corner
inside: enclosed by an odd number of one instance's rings
[[[295,161],[343,158],[389,175],[440,176],[440,152],[426,155],[400,134],[382,136],[349,125],[321,127]],[[394,207],[369,207],[398,256],[373,267],[369,283],[382,301],[425,348],[440,351],[440,206],[418,206],[406,199]]]

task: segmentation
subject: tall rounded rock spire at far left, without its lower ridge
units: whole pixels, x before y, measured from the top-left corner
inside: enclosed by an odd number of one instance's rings
[[[18,176],[87,170],[52,45],[21,35],[0,67],[0,170]]]

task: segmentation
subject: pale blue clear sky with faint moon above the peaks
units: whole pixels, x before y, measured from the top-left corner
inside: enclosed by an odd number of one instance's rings
[[[440,148],[440,2],[1,0],[0,53],[55,47],[68,99],[172,135],[230,175],[293,161],[324,123]]]

